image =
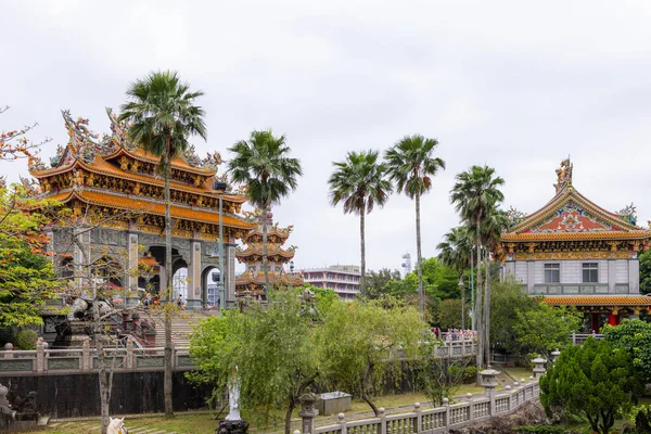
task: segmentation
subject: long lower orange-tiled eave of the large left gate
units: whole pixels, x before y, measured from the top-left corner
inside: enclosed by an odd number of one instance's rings
[[[48,199],[59,201],[61,203],[69,202],[77,199],[84,203],[97,206],[107,206],[126,212],[152,214],[157,216],[165,215],[165,205],[162,203],[136,200],[131,196],[115,195],[106,192],[90,191],[90,190],[72,190],[69,192],[59,193]],[[190,221],[199,221],[210,225],[219,225],[219,213],[209,212],[207,209],[186,208],[182,206],[171,205],[171,217]],[[222,224],[235,229],[250,229],[254,224],[240,220],[232,215],[224,215]]]

